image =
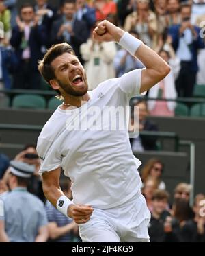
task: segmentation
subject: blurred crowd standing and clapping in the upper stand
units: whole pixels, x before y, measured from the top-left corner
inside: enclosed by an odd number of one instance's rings
[[[0,89],[42,89],[38,60],[55,43],[74,48],[87,72],[89,89],[100,82],[143,67],[117,43],[96,43],[92,30],[107,19],[154,49],[172,71],[148,96],[192,97],[195,84],[205,84],[204,0],[47,0],[0,1]],[[47,87],[49,89],[49,85]],[[151,100],[150,115],[173,116],[172,101]]]

